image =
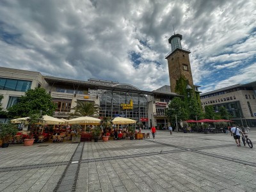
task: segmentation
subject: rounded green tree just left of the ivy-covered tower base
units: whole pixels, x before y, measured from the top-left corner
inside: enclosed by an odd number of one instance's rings
[[[186,111],[185,102],[180,99],[180,97],[174,97],[168,108],[165,109],[165,115],[168,116],[170,122],[175,122],[175,115],[177,116],[177,121],[188,119],[188,113]]]

